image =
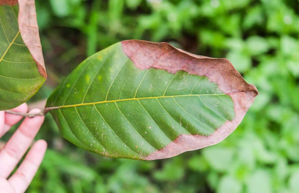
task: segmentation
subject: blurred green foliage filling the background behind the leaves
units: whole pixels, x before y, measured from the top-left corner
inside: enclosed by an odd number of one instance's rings
[[[62,139],[28,192],[299,192],[298,0],[36,1],[49,78],[46,98],[83,59],[125,39],[226,57],[260,95],[236,131],[202,150],[156,161],[111,159]]]

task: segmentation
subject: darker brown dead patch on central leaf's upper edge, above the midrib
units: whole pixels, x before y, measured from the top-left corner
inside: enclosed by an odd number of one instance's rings
[[[228,59],[198,56],[176,49],[165,42],[126,40],[122,45],[124,53],[140,69],[157,68],[170,73],[183,70],[190,74],[207,76],[210,81],[216,82],[225,94],[245,91],[258,94],[256,87],[245,82]]]

